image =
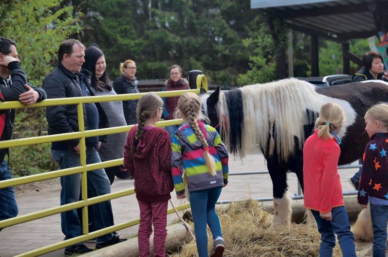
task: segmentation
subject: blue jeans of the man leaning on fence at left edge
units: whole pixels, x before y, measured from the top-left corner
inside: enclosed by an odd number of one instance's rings
[[[0,164],[0,181],[11,179],[11,171],[8,163],[3,161]],[[0,221],[14,218],[18,215],[18,205],[16,204],[14,187],[0,189]],[[0,231],[2,229],[0,228]]]

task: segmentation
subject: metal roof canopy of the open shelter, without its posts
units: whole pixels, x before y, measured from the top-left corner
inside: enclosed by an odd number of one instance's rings
[[[251,8],[276,11],[290,28],[337,42],[388,29],[388,0],[251,0]]]

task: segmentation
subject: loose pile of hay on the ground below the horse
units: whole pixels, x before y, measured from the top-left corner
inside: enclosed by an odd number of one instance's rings
[[[222,233],[226,242],[224,256],[318,256],[321,236],[316,225],[292,223],[272,227],[272,214],[263,211],[255,200],[231,203],[219,209]],[[208,230],[208,250],[213,240]],[[195,242],[183,245],[171,257],[197,256]],[[334,256],[342,256],[338,244]]]

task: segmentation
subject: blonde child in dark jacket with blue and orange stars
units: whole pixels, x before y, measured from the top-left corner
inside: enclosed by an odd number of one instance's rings
[[[365,130],[371,141],[366,145],[358,202],[370,203],[373,228],[373,256],[385,256],[388,219],[388,105],[372,106],[365,114]]]

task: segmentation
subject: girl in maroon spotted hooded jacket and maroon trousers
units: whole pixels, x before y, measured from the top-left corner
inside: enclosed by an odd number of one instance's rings
[[[170,136],[157,128],[163,100],[155,93],[141,96],[136,115],[138,123],[128,133],[124,166],[135,180],[140,208],[138,245],[140,257],[150,256],[150,235],[154,225],[154,256],[165,256],[167,206],[174,189],[170,158]]]

